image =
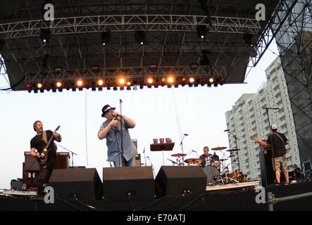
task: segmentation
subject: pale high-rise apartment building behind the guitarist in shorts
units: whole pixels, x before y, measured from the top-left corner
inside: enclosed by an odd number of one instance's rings
[[[266,140],[270,134],[270,125],[277,124],[277,131],[285,134],[289,139],[286,146],[287,166],[292,169],[294,164],[300,165],[297,137],[292,117],[285,75],[280,58],[275,58],[266,69],[267,82],[262,84],[256,94],[243,94],[232,106],[232,110],[225,113],[227,129],[230,130],[230,149],[239,148],[232,152],[232,171],[239,170],[248,174],[249,181],[260,180],[260,162],[258,153],[261,146],[250,136]],[[267,110],[264,108],[279,108]],[[235,139],[235,136],[237,139]]]

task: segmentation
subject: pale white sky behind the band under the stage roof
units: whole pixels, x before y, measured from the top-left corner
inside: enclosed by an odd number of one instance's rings
[[[273,41],[274,42],[274,41]],[[274,53],[273,53],[274,52]],[[0,189],[10,189],[11,180],[23,177],[25,151],[30,151],[30,140],[36,135],[32,124],[40,120],[44,129],[54,130],[63,140],[58,143],[58,151],[73,151],[74,166],[96,168],[100,178],[107,162],[106,139],[99,140],[99,127],[106,120],[101,117],[101,109],[109,104],[122,114],[135,121],[136,127],[130,129],[132,139],[137,139],[137,152],[141,155],[143,166],[152,166],[154,177],[162,165],[173,165],[171,156],[183,153],[185,159],[199,158],[204,146],[216,148],[229,147],[225,113],[232,109],[235,101],[245,93],[256,93],[266,82],[265,70],[277,57],[277,46],[272,43],[255,68],[245,79],[247,84],[224,84],[218,87],[178,88],[152,87],[148,89],[113,91],[67,91],[53,93],[28,93],[27,91],[0,92]],[[4,77],[0,77],[0,87],[8,87]],[[153,139],[170,138],[175,143],[172,151],[152,152]],[[64,149],[66,148],[66,149]],[[219,158],[228,159],[226,150],[213,151]],[[192,152],[192,150],[196,151]],[[70,166],[72,164],[70,158]],[[164,164],[163,164],[164,161]]]

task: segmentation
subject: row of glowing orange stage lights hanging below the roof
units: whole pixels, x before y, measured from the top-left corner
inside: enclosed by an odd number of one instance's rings
[[[151,88],[151,86],[154,86],[157,88],[158,86],[175,86],[178,87],[179,84],[181,86],[189,85],[189,86],[218,86],[223,85],[225,83],[225,78],[221,77],[220,79],[215,79],[213,77],[204,77],[204,78],[194,78],[194,77],[181,77],[181,78],[175,78],[175,77],[162,77],[162,78],[154,78],[154,77],[148,77],[146,79],[127,79],[124,77],[120,77],[116,80],[112,79],[97,79],[93,81],[84,80],[84,79],[77,79],[72,82],[61,82],[57,81],[54,83],[46,83],[46,82],[37,82],[32,84],[26,84],[26,88],[28,89],[28,92],[31,92],[34,90],[35,93],[38,91],[44,92],[52,90],[53,92],[62,91],[63,89],[76,91],[76,89],[82,91],[83,88],[89,89],[91,88],[92,91],[95,91],[96,88],[101,91],[104,87],[106,87],[108,90],[113,88],[114,91],[118,90],[118,86],[120,90],[127,89],[131,90],[131,86],[139,86],[140,89],[143,89],[144,86],[147,86],[148,88]]]

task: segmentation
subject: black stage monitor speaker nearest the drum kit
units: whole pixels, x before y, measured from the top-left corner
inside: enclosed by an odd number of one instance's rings
[[[207,176],[201,167],[163,166],[155,179],[156,197],[204,193],[206,184]]]

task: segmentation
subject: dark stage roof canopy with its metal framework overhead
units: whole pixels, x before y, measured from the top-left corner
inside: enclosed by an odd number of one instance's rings
[[[277,1],[266,4],[269,16]],[[6,22],[0,24],[0,39],[6,41],[4,58],[13,84],[24,76],[25,82],[55,79],[59,73],[54,71],[56,67],[62,68],[64,79],[76,75],[113,77],[125,68],[134,77],[162,76],[171,68],[178,76],[205,74],[226,77],[226,83],[242,83],[247,65],[254,67],[258,63],[271,38],[263,32],[268,19],[254,18],[255,4],[251,1],[207,1],[205,9],[199,1],[86,4],[78,0],[73,4],[60,0],[54,1],[56,17],[51,21],[42,20],[40,2],[30,0],[25,7],[21,0],[19,6],[13,0],[5,4],[2,18]],[[205,39],[196,35],[198,25],[206,28]],[[43,28],[51,32],[49,43],[43,44],[38,38]],[[112,38],[103,46],[101,32],[108,30]],[[146,32],[144,46],[137,44],[132,34],[138,30]],[[252,48],[242,39],[245,33],[257,40]],[[203,51],[209,52],[207,64],[201,63]],[[251,51],[256,56],[250,57]],[[45,56],[49,61],[43,63]],[[150,63],[158,68],[151,73]],[[208,73],[205,66],[192,68],[194,63],[209,65]],[[96,75],[92,65],[99,67]],[[18,89],[25,89],[25,84]]]

